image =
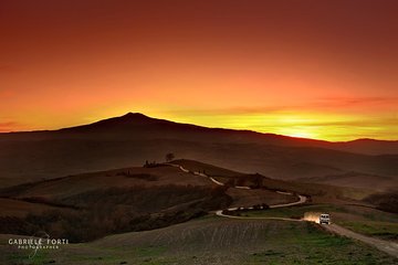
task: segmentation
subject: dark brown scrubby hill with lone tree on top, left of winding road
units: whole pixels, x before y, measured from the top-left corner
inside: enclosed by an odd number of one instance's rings
[[[289,188],[284,181],[274,180],[274,184],[273,189],[240,191],[164,163],[41,180],[0,189],[0,233],[29,235],[44,230],[73,242],[86,242],[186,222],[237,203],[252,206],[296,201],[293,194],[275,192]]]

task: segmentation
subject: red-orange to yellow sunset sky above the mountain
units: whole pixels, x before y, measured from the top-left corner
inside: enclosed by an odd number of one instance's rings
[[[398,139],[398,1],[0,0],[0,131],[127,112]]]

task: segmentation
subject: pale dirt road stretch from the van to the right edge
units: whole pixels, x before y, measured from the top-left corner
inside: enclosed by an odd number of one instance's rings
[[[398,243],[378,240],[378,239],[369,237],[369,236],[366,236],[363,234],[358,234],[350,230],[344,229],[337,224],[324,224],[324,225],[322,225],[322,227],[324,227],[325,230],[331,231],[333,233],[364,242],[368,245],[371,245],[371,246],[378,248],[379,251],[390,254],[391,256],[398,257]]]

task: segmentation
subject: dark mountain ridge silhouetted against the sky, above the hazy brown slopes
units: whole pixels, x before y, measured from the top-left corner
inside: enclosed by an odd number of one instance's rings
[[[0,141],[7,139],[59,139],[96,137],[133,139],[184,139],[196,141],[261,144],[287,147],[318,147],[364,155],[398,155],[398,140],[357,139],[352,141],[326,141],[296,138],[253,130],[209,128],[191,124],[175,123],[153,118],[140,113],[127,113],[119,117],[103,119],[88,125],[62,128],[57,130],[2,132]]]

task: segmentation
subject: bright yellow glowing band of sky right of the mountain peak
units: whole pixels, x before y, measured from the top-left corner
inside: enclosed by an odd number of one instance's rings
[[[396,139],[398,131],[397,124],[371,124],[371,119],[368,117],[316,113],[209,115],[193,118],[176,117],[175,119],[210,127],[249,129],[332,141],[353,140],[364,138],[364,136],[377,139]]]

